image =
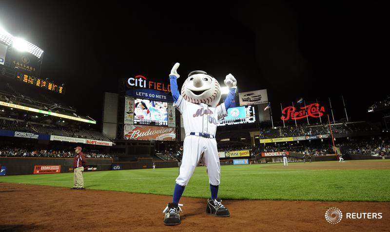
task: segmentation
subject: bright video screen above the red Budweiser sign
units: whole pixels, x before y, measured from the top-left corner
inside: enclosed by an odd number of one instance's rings
[[[168,103],[134,99],[134,124],[168,126]]]

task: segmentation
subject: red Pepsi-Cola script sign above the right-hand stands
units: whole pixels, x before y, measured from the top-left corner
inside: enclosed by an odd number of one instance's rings
[[[283,121],[287,121],[289,119],[298,120],[307,117],[319,118],[324,115],[325,108],[320,106],[318,103],[313,103],[307,105],[306,107],[300,107],[297,109],[295,107],[286,107],[282,110]]]

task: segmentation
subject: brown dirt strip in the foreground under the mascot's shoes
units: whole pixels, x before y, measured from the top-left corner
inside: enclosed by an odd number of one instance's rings
[[[206,199],[183,197],[182,223],[168,227],[163,225],[162,211],[171,196],[14,183],[0,183],[0,196],[0,231],[389,231],[390,227],[389,202],[223,200],[231,216],[217,218],[205,214]],[[343,218],[332,225],[325,220],[331,207],[343,214],[382,213],[383,218]]]

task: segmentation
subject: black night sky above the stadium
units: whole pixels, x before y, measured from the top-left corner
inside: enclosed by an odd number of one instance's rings
[[[130,1],[128,1],[130,2]],[[344,95],[352,119],[389,95],[388,7],[375,1],[269,0],[256,5],[114,1],[1,1],[0,25],[44,52],[42,78],[65,83],[66,101],[101,120],[103,92],[138,74],[168,81],[204,70],[240,91],[268,89],[273,113],[299,97]],[[279,111],[277,111],[279,110]]]

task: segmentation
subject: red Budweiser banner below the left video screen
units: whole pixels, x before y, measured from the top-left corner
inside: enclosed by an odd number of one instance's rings
[[[127,140],[175,140],[174,127],[125,125],[123,138]]]

